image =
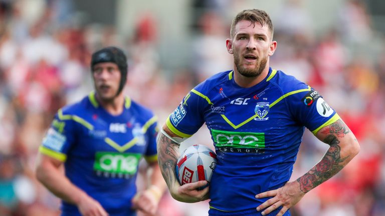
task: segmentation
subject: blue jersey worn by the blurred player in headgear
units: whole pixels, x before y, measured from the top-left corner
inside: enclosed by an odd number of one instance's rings
[[[126,97],[123,112],[114,116],[91,92],[59,109],[39,150],[63,161],[71,182],[110,215],[134,215],[138,163],[142,156],[157,161],[156,133],[157,119],[149,109]],[[80,215],[67,202],[62,210],[63,215]]]

